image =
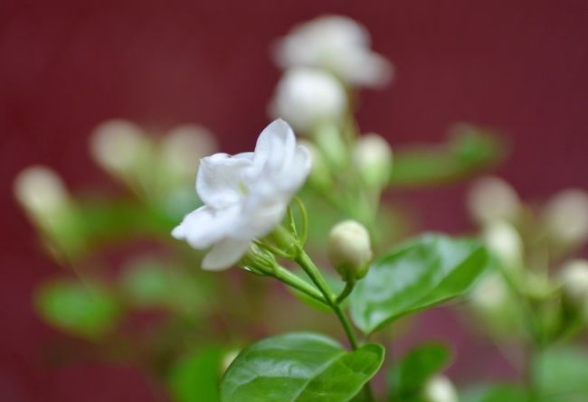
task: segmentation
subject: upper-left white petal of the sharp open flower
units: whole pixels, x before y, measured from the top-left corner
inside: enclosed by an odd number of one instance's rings
[[[204,204],[226,208],[241,200],[242,175],[251,167],[251,153],[213,154],[200,162],[196,192]]]

